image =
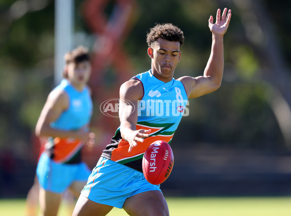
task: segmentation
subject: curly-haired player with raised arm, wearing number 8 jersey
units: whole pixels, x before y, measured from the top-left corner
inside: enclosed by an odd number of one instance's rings
[[[172,24],[158,24],[147,35],[151,70],[140,73],[120,87],[120,127],[93,169],[79,197],[73,216],[104,216],[113,207],[131,216],[168,216],[169,209],[159,185],[150,184],[141,161],[156,140],[171,143],[188,98],[217,90],[223,76],[223,35],[231,11],[217,11],[210,58],[203,76],[173,79],[180,61],[183,32]]]

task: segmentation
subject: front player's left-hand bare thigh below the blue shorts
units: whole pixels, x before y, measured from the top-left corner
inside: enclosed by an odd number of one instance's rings
[[[113,206],[93,202],[81,195],[75,206],[73,216],[105,216]]]

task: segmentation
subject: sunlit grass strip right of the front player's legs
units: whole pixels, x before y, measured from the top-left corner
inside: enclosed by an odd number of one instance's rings
[[[171,216],[291,216],[289,198],[167,198]]]

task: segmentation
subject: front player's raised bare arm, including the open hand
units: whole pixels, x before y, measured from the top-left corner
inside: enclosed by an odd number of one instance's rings
[[[183,76],[178,79],[184,84],[189,98],[211,93],[221,86],[224,67],[223,36],[230,22],[231,10],[227,13],[227,8],[224,8],[222,17],[220,15],[221,11],[218,9],[216,22],[213,23],[212,16],[208,20],[209,29],[212,32],[212,46],[203,76]]]

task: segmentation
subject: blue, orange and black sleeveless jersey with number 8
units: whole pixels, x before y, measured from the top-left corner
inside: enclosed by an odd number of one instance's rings
[[[102,156],[142,172],[142,157],[145,150],[156,140],[171,143],[172,137],[185,111],[188,110],[188,96],[184,85],[174,78],[167,83],[157,79],[151,73],[140,73],[132,79],[143,85],[144,95],[137,108],[137,130],[151,129],[150,136],[144,143],[137,144],[128,152],[129,144],[121,138],[120,127],[111,144],[103,150]]]

